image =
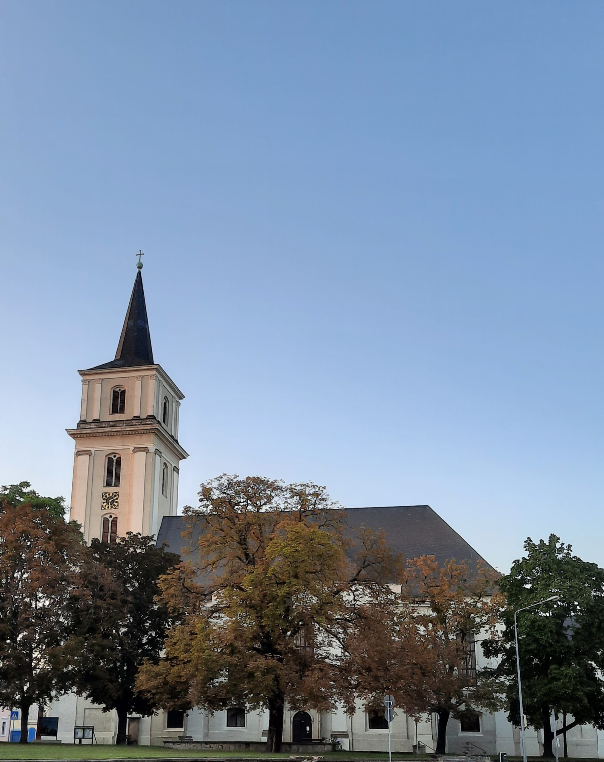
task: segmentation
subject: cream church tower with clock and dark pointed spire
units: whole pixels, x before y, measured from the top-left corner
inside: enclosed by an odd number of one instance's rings
[[[178,443],[182,392],[153,361],[137,264],[115,359],[82,376],[82,408],[75,429],[71,519],[85,540],[114,543],[127,532],[156,535],[162,517],[178,507]]]

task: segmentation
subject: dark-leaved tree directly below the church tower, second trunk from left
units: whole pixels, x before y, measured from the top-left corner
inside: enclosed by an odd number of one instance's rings
[[[157,581],[179,560],[153,537],[130,532],[114,545],[93,539],[88,549],[85,594],[72,598],[69,674],[82,695],[117,711],[117,744],[127,742],[129,713],[157,708],[135,682],[143,660],[159,660],[171,619],[156,600]]]

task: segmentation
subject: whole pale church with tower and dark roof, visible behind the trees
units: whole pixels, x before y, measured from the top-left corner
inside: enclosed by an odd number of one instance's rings
[[[156,536],[160,546],[182,553],[187,541],[178,516],[178,475],[187,453],[178,441],[178,422],[184,395],[153,357],[142,263],[137,267],[114,360],[79,371],[79,420],[67,430],[75,442],[70,518],[81,524],[88,543],[93,538],[115,543],[127,532],[140,532]],[[456,559],[472,566],[479,559],[484,561],[427,505],[346,511],[353,525],[365,523],[384,530],[391,549],[407,558],[435,555],[441,562]],[[473,658],[474,669],[484,664],[480,639]],[[81,696],[62,696],[49,709],[47,714],[58,719],[56,738],[63,743],[73,743],[75,725],[93,725],[98,743],[115,742],[117,716],[102,712]],[[128,723],[131,740],[141,745],[178,743],[180,736],[188,736],[202,744],[198,748],[234,750],[245,743],[260,751],[267,735],[268,712],[246,712],[243,707],[214,714],[202,709],[160,711],[151,717],[132,716]],[[433,718],[415,722],[403,712],[395,712],[391,732],[393,751],[412,752],[417,744],[424,744],[427,752],[435,748]],[[369,715],[360,704],[352,717],[343,710],[285,713],[285,744],[330,736],[350,751],[388,748],[384,718]],[[512,728],[504,712],[484,712],[465,725],[451,718],[448,752],[461,754],[467,744],[475,754],[503,751],[519,755],[519,729]],[[591,726],[569,732],[570,756],[598,757],[600,750],[604,754],[604,733]],[[529,756],[541,754],[540,735],[532,728],[527,732],[527,752]]]

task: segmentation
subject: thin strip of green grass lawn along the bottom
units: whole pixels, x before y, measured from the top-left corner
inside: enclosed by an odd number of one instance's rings
[[[302,756],[297,754],[297,756]],[[309,755],[310,756],[310,755]],[[340,760],[387,760],[387,754],[365,751],[336,751],[320,754],[326,759]],[[114,760],[114,759],[201,759],[239,760],[289,759],[290,753],[266,754],[258,751],[198,751],[166,749],[163,746],[110,746],[95,744],[0,744],[0,760]],[[393,754],[393,760],[419,759],[415,754]],[[428,756],[422,757],[429,759]],[[586,762],[586,760],[581,760]]]

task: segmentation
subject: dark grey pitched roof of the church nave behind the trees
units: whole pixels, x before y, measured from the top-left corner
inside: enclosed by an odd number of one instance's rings
[[[429,505],[346,508],[345,513],[348,514],[345,523],[351,536],[355,536],[361,524],[373,530],[384,530],[392,552],[400,553],[407,559],[434,555],[440,563],[455,559],[458,563],[466,562],[469,568],[475,568],[480,560],[490,567]],[[182,536],[185,526],[185,517],[165,516],[159,527],[157,545],[165,543],[166,549],[182,555],[191,543]]]

